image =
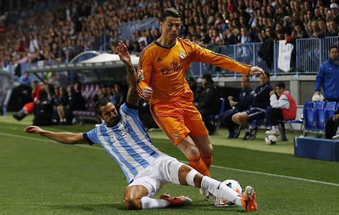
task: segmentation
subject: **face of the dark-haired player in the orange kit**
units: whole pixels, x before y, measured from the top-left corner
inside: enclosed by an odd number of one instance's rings
[[[167,39],[174,40],[178,37],[181,29],[181,18],[167,17],[164,22],[161,22],[163,28],[163,35]]]

